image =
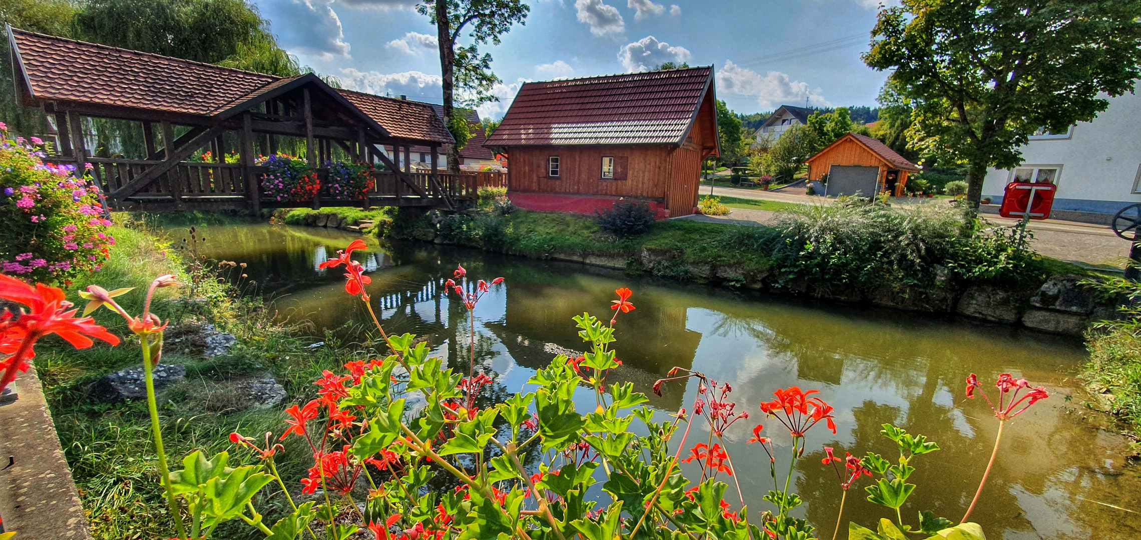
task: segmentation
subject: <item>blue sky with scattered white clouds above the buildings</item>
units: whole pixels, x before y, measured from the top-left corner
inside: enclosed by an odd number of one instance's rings
[[[301,64],[346,88],[440,101],[435,27],[414,0],[253,0]],[[889,0],[890,1],[890,0]],[[866,67],[880,0],[531,0],[494,57],[499,117],[519,84],[713,64],[718,97],[741,113],[779,105],[875,105],[885,74]],[[462,42],[467,42],[463,40]]]

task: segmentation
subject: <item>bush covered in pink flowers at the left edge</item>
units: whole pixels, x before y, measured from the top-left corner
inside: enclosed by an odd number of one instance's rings
[[[41,161],[43,142],[7,139],[0,123],[0,269],[21,279],[67,283],[99,269],[115,239],[106,232],[99,188],[73,165]],[[33,146],[34,145],[34,146]]]

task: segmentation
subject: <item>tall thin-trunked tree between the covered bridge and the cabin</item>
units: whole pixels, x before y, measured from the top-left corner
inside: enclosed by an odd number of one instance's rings
[[[460,171],[460,148],[470,137],[464,115],[455,115],[455,90],[462,93],[462,104],[476,107],[497,101],[491,89],[500,79],[492,73],[491,54],[479,54],[479,46],[500,44],[500,38],[511,31],[515,23],[526,24],[531,7],[520,0],[428,0],[416,6],[421,15],[436,25],[439,42],[439,71],[444,91],[444,123],[455,138],[447,154],[447,170]],[[471,44],[458,41],[468,30]]]

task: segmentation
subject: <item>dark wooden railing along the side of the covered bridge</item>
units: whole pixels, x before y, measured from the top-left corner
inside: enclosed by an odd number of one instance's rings
[[[47,161],[55,159],[49,157]],[[71,163],[71,158],[59,158],[58,162]],[[90,157],[87,162],[92,165],[91,174],[106,194],[115,193],[147,169],[162,163],[149,159],[106,157]],[[248,181],[245,171],[249,171],[250,175],[253,177],[252,182]],[[251,185],[259,186],[261,175],[266,172],[268,170],[264,166],[243,167],[237,163],[180,162],[169,172],[159,175],[157,179],[120,203],[131,203],[123,206],[147,203],[147,206],[153,210],[161,210],[168,204],[201,208],[245,208],[251,206],[250,201],[252,199],[249,187]],[[327,170],[318,169],[317,174],[324,180],[327,177]],[[337,201],[330,198],[327,193],[323,190],[324,196],[321,197],[319,203],[326,206],[369,206],[374,203],[436,205],[443,203],[445,198],[474,201],[477,198],[480,187],[507,185],[507,174],[500,172],[462,172],[460,174],[442,172],[436,175],[436,182],[432,181],[431,173],[412,172],[403,175],[408,181],[404,181],[394,172],[375,172],[373,174],[373,189],[367,194],[369,202],[363,198],[359,201]],[[266,206],[309,206],[311,204],[311,202],[269,201],[265,198],[260,189],[257,197]]]

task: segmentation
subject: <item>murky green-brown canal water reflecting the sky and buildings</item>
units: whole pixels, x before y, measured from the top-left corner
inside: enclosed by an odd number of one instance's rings
[[[176,240],[188,238],[179,229],[169,234]],[[245,263],[233,279],[251,294],[273,298],[282,318],[308,321],[315,335],[329,330],[350,341],[364,336],[367,312],[346,295],[343,272],[317,268],[358,236],[260,223],[202,227],[197,236],[205,237],[196,247],[201,256]],[[654,395],[650,385],[670,368],[729,383],[737,410],[752,416],[736,423],[725,439],[754,512],[770,508],[762,496],[772,489],[772,480],[763,450],[745,444],[751,429],[767,425],[782,463],[787,463],[790,445],[787,432],[766,420],[758,404],[777,388],[819,390],[835,408],[837,431],[833,434],[820,424],[808,433],[794,484],[807,501],[798,515],[818,526],[822,538],[832,537],[841,497],[832,468],[820,464],[823,447],[836,448],[840,456],[874,451],[895,457],[893,443],[879,434],[884,423],[928,435],[940,447],[913,460],[917,471],[911,481],[919,486],[903,509],[905,522],[917,524],[916,513],[923,509],[952,521],[962,517],[998,427],[986,402],[965,399],[964,378],[976,373],[993,382],[1001,373],[1012,373],[1046,386],[1051,396],[1006,426],[971,521],[992,540],[1141,538],[1141,473],[1126,463],[1127,441],[1082,406],[1086,396],[1075,374],[1086,357],[1077,339],[424,243],[372,247],[357,260],[372,277],[369,293],[386,330],[427,336],[435,354],[453,365],[467,366],[467,312],[443,295],[438,284],[456,264],[476,279],[503,277],[504,284],[475,310],[478,366],[500,393],[524,388],[535,369],[556,354],[582,351],[570,318],[584,311],[609,317],[614,289],[632,288],[637,309],[618,318],[616,350],[623,366],[612,377],[631,381],[649,395],[661,419],[679,407],[690,408],[697,392],[694,383],[673,383],[663,387],[662,396]],[[592,409],[590,392],[581,394],[583,410]],[[707,436],[697,424],[687,445]],[[687,475],[699,475],[695,471]],[[864,485],[866,478],[849,493],[844,522],[874,529],[880,517],[893,516],[864,500]],[[736,502],[735,491],[730,488],[726,499]],[[841,532],[840,538],[845,537]]]

